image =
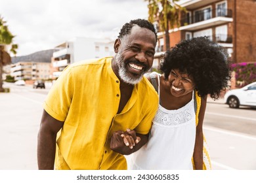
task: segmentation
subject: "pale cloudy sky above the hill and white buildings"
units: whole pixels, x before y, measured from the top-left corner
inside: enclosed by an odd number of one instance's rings
[[[144,0],[0,0],[16,56],[53,49],[74,37],[116,39],[130,20],[148,18]]]

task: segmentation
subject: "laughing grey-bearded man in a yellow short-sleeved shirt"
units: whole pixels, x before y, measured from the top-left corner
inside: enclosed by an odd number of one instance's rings
[[[114,58],[80,61],[64,69],[43,104],[39,169],[127,169],[123,154],[146,143],[158,108],[158,95],[144,77],[152,67],[156,41],[154,25],[131,20],[114,43]],[[122,135],[127,146],[115,146]]]

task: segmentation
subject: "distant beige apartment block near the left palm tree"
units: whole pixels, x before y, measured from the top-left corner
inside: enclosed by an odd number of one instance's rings
[[[11,65],[10,75],[14,80],[47,80],[51,71],[51,63],[19,61]]]

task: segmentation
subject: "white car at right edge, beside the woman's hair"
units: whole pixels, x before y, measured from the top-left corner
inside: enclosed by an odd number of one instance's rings
[[[256,82],[248,84],[243,88],[226,92],[224,102],[230,108],[238,108],[240,105],[256,107]]]

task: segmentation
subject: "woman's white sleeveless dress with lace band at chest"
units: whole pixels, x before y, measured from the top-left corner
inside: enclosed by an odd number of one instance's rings
[[[167,110],[159,105],[149,140],[131,156],[130,169],[193,169],[195,139],[194,97],[177,110]]]

